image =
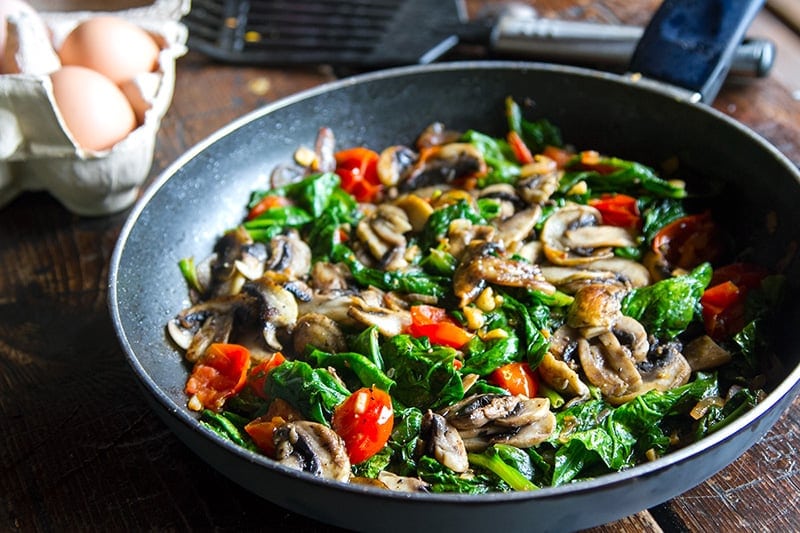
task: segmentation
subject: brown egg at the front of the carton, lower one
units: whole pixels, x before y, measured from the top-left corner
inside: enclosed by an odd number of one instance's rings
[[[86,67],[65,66],[50,75],[67,130],[84,149],[108,150],[136,128],[136,115],[120,88]]]

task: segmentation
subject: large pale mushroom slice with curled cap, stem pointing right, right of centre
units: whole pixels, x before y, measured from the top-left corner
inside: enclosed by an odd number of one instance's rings
[[[556,265],[583,265],[613,257],[613,247],[634,246],[627,230],[602,226],[602,215],[588,205],[569,205],[550,215],[542,226],[547,259]]]

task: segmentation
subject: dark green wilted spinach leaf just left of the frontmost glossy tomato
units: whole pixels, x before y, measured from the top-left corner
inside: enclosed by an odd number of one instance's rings
[[[324,368],[304,361],[284,361],[267,374],[264,392],[282,398],[307,419],[329,425],[333,410],[350,391]]]

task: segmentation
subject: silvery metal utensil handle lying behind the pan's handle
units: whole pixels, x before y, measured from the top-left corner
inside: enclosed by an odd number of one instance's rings
[[[492,49],[563,63],[600,63],[627,67],[644,28],[518,17],[501,14],[494,26]],[[744,41],[734,53],[731,74],[766,76],[775,58],[775,45],[766,39]]]

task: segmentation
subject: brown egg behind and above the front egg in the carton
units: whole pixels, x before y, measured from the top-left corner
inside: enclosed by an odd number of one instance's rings
[[[79,65],[121,84],[158,66],[159,47],[139,26],[113,15],[89,18],[67,35],[58,50],[63,65]]]

